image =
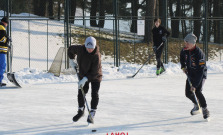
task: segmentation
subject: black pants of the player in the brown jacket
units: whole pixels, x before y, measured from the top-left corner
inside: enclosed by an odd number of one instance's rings
[[[91,109],[97,109],[98,102],[99,102],[99,95],[98,91],[100,88],[100,82],[91,82]],[[87,94],[89,90],[89,82],[86,82],[84,85],[84,93]],[[81,90],[78,90],[78,105],[79,107],[84,107],[84,98],[82,95]]]

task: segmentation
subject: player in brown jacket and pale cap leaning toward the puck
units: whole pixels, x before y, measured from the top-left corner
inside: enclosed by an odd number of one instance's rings
[[[88,92],[89,84],[91,84],[91,116],[94,118],[97,105],[99,102],[99,88],[102,80],[101,54],[99,47],[96,45],[94,37],[88,37],[85,45],[72,45],[68,48],[68,56],[70,58],[71,67],[76,66],[73,59],[77,56],[77,64],[79,67],[78,82],[78,113],[73,117],[73,121],[78,121],[84,114],[85,102],[80,87],[83,88],[85,94]],[[88,116],[87,122],[92,123]]]

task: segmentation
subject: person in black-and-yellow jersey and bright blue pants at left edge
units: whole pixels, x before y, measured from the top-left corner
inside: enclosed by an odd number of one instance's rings
[[[6,54],[8,52],[8,42],[10,38],[6,34],[6,27],[8,26],[9,20],[7,17],[3,17],[0,22],[0,87],[6,86],[5,83],[2,82],[3,74],[5,73],[6,68]]]

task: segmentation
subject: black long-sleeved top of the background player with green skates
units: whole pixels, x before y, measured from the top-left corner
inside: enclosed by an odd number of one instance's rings
[[[166,28],[161,25],[158,28],[154,27],[152,29],[152,33],[153,33],[154,46],[157,46],[157,47],[163,42],[162,40],[163,36],[169,37],[170,35],[170,32],[167,31]]]

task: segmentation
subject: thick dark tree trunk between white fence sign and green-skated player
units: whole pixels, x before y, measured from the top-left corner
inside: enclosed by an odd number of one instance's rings
[[[152,42],[153,19],[155,15],[156,0],[146,0],[145,42]]]

